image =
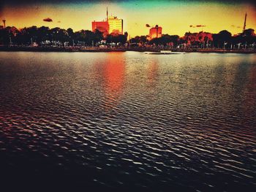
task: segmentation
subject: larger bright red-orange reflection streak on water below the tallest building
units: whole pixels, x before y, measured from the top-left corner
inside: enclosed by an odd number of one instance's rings
[[[104,67],[105,105],[107,109],[116,106],[124,85],[124,53],[108,53]]]

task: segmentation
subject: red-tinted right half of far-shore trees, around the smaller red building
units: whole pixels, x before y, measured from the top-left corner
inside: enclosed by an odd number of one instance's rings
[[[219,31],[218,34],[211,34],[200,31],[199,33],[186,33],[184,37],[178,35],[163,34],[162,37],[149,39],[148,36],[137,36],[130,39],[130,42],[138,46],[167,46],[167,47],[195,47],[195,48],[225,48],[225,49],[240,49],[252,48],[255,49],[256,36],[255,30],[252,28],[246,29],[243,33],[234,35],[227,31]]]

